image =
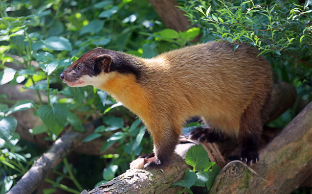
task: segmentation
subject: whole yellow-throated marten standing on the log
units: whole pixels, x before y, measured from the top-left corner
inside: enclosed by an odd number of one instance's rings
[[[132,167],[168,165],[186,119],[199,115],[206,127],[191,137],[216,142],[237,136],[240,157],[258,160],[258,141],[271,96],[272,72],[243,43],[208,42],[143,59],[101,47],[87,52],[60,75],[71,87],[92,85],[140,116],[150,132],[152,154]]]

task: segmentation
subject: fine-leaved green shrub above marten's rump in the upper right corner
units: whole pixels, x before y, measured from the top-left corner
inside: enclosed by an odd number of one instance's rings
[[[179,8],[203,28],[201,41],[249,42],[272,64],[276,79],[297,87],[299,100],[312,99],[311,1],[184,2]]]

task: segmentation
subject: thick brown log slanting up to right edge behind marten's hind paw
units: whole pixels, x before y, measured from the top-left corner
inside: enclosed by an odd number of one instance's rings
[[[211,193],[291,193],[311,176],[312,102],[259,153],[249,171],[241,163],[226,166]]]

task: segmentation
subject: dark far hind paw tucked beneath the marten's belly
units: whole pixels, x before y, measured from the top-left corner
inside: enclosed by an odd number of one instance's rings
[[[208,126],[196,127],[190,132],[190,138],[196,139],[200,142],[222,142],[229,138],[222,132],[216,132]]]

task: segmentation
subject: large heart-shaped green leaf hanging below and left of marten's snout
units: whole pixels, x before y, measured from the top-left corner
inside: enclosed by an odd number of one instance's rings
[[[69,112],[70,111],[66,105],[54,104],[53,107],[49,105],[41,106],[38,109],[37,114],[42,119],[44,125],[58,136],[67,122]]]

